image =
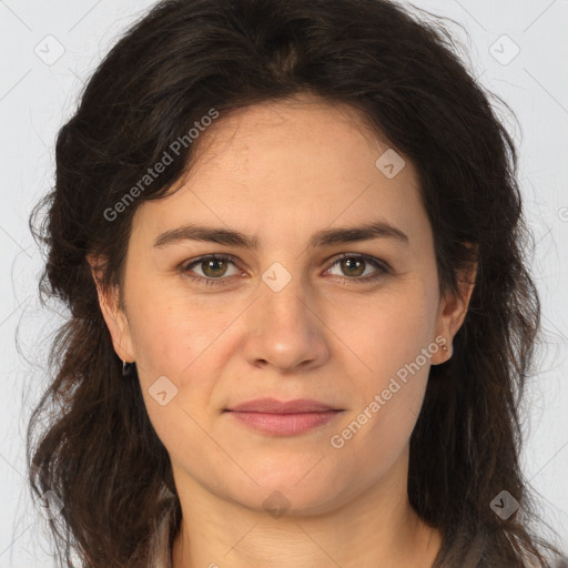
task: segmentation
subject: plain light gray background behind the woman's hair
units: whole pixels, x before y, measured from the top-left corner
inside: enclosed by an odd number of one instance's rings
[[[520,152],[546,334],[526,404],[523,462],[568,550],[568,1],[416,3],[465,28],[469,38],[448,23],[466,45],[468,67],[518,118],[498,108]],[[45,386],[49,332],[61,320],[40,310],[37,300],[41,257],[28,215],[52,184],[54,136],[83,81],[118,34],[152,4],[0,0],[0,568],[53,566],[28,495],[23,440],[30,409]]]

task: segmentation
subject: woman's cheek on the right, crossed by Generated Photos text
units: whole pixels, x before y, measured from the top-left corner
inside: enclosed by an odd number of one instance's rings
[[[357,328],[366,333],[353,333],[351,339],[365,367],[352,376],[358,390],[346,420],[353,447],[373,447],[386,456],[408,440],[438,349],[433,336],[436,303],[430,291],[415,286],[368,304],[358,321]]]

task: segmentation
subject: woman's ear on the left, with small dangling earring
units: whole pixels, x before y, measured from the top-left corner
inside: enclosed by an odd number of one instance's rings
[[[112,344],[116,355],[126,363],[134,361],[134,349],[132,348],[132,336],[126,313],[120,306],[120,291],[118,286],[104,288],[102,285],[103,264],[100,258],[88,255],[88,262],[91,266],[91,274],[97,286],[99,295],[99,306],[106,323],[106,327],[112,337]]]

